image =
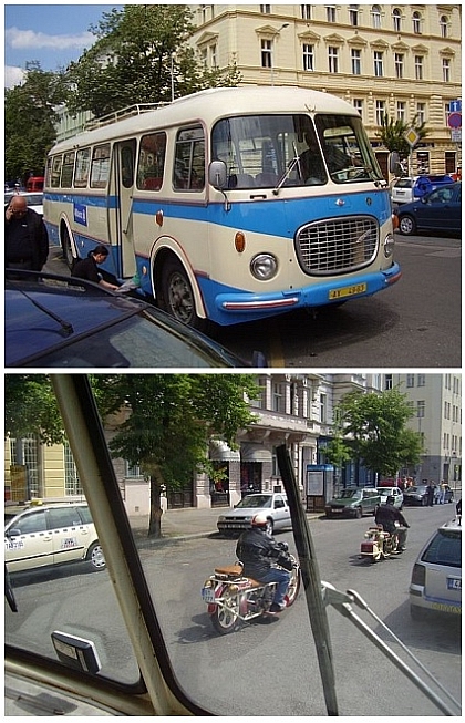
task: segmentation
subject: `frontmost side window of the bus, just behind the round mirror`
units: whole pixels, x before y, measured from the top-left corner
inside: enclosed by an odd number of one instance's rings
[[[182,128],[177,134],[173,187],[175,190],[203,190],[205,187],[205,138],[200,125]]]

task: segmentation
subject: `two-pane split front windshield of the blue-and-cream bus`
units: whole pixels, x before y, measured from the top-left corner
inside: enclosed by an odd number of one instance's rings
[[[382,179],[361,118],[319,115],[317,128],[308,115],[223,118],[213,158],[225,162],[231,189]]]

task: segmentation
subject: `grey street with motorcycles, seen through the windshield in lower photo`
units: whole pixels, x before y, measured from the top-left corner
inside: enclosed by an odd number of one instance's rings
[[[353,589],[457,699],[461,695],[461,621],[413,621],[407,589],[416,555],[434,529],[454,516],[453,505],[406,507],[407,550],[372,565],[359,559],[372,517],[312,519],[310,529],[321,579]],[[277,535],[293,547],[291,533]],[[294,606],[269,624],[251,623],[220,637],[200,598],[214,567],[235,560],[235,540],[217,535],[140,543],[174,672],[198,703],[224,715],[326,715],[314,644],[301,590]],[[95,642],[103,674],[134,682],[136,669],[112,597],[107,572],[81,568],[14,580],[19,613],[7,610],[7,640],[28,636],[53,657],[52,630],[73,631]],[[65,591],[65,595],[64,595]],[[388,633],[355,612],[407,662]],[[335,610],[328,611],[340,715],[438,715],[437,709]],[[423,674],[422,674],[423,678]]]

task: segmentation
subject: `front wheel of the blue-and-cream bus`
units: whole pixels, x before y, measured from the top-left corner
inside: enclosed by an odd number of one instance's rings
[[[163,269],[162,295],[165,310],[178,321],[194,329],[203,329],[204,320],[195,312],[194,291],[187,273],[176,259],[169,259]]]

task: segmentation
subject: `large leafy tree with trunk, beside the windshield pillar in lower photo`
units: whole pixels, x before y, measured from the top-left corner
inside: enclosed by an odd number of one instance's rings
[[[148,535],[161,536],[161,492],[178,489],[194,472],[213,473],[208,441],[232,448],[236,434],[254,423],[247,399],[259,389],[250,374],[95,375],[100,409],[118,414],[110,443],[114,456],[138,464],[151,478]]]

